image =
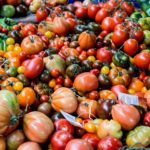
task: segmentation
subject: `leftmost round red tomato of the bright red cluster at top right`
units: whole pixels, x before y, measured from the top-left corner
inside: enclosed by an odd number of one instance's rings
[[[86,18],[87,17],[87,8],[86,7],[79,7],[75,11],[75,15],[78,18]]]

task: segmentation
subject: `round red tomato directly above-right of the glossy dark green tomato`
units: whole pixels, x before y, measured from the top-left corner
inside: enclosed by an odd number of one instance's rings
[[[128,39],[124,43],[124,51],[130,56],[134,55],[137,52],[138,47],[138,42],[135,39]]]

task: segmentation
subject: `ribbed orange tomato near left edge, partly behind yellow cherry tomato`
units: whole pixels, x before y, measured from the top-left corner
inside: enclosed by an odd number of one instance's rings
[[[1,87],[1,89],[3,90],[3,89],[7,89],[7,90],[9,90],[9,91],[14,91],[14,89],[13,89],[13,84],[14,83],[16,83],[16,82],[18,82],[19,80],[17,79],[17,78],[14,78],[14,77],[9,77],[9,78],[7,78],[6,80],[4,80],[3,82],[2,82],[2,87]]]

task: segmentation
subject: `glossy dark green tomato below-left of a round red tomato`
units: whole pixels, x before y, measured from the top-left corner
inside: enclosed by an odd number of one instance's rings
[[[128,67],[130,64],[129,56],[122,51],[118,51],[113,56],[113,63],[118,67]]]

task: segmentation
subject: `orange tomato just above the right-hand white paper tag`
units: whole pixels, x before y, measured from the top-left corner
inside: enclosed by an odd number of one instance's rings
[[[140,92],[143,87],[144,83],[138,78],[133,78],[129,85],[129,89],[133,89],[135,92]]]

